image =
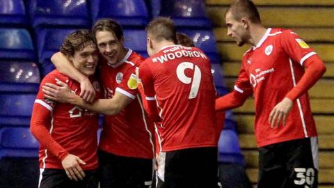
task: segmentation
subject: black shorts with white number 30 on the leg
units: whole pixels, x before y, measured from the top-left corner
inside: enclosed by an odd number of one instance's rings
[[[258,188],[315,188],[317,185],[317,137],[260,148]]]

